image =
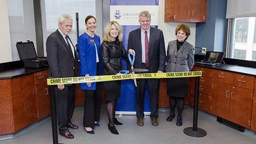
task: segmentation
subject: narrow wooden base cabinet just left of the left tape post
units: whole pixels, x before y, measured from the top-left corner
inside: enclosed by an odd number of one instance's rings
[[[50,90],[46,81],[48,70],[34,73],[37,121],[51,114]]]

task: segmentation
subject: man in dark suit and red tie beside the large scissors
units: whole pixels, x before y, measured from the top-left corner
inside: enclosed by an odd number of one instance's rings
[[[165,45],[163,31],[150,27],[151,15],[148,11],[142,11],[139,14],[139,23],[141,28],[130,32],[128,39],[128,50],[133,49],[136,52],[134,68],[148,69],[146,73],[163,73],[165,68]],[[127,67],[130,67],[127,62]],[[136,87],[136,110],[137,124],[143,126],[144,98],[146,84],[148,85],[150,97],[150,117],[154,126],[158,125],[158,90],[159,79],[141,78],[137,79]]]

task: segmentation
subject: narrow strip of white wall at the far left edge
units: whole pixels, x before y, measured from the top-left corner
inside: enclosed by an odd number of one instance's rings
[[[12,61],[10,28],[8,19],[7,0],[0,1],[0,63]]]

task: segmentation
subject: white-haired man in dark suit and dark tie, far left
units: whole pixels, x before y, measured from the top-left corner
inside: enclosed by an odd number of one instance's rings
[[[68,37],[72,30],[73,19],[68,14],[62,14],[58,22],[59,28],[46,40],[49,77],[74,77],[78,66],[78,55]],[[54,85],[54,94],[59,133],[67,139],[73,139],[74,135],[69,132],[68,128],[78,129],[78,126],[70,121],[75,107],[76,85]]]

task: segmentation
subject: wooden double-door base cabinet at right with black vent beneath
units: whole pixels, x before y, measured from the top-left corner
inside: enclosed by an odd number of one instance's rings
[[[216,70],[212,114],[250,128],[254,77]]]

